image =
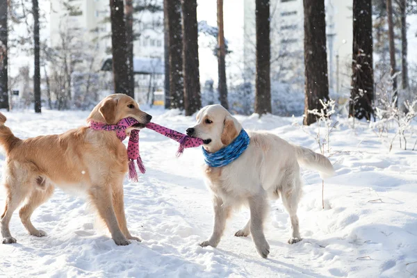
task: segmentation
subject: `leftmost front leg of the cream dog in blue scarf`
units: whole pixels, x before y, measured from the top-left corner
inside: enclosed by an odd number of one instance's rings
[[[213,206],[214,206],[214,227],[213,234],[211,237],[200,243],[201,247],[206,247],[208,245],[212,247],[217,247],[220,243],[220,238],[222,238],[224,227],[226,227],[226,220],[230,216],[231,207],[224,205],[220,197],[213,197]]]

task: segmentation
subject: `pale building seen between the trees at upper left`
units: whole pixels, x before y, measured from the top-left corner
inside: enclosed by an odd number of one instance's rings
[[[163,64],[163,12],[150,13],[143,10],[135,13],[133,17],[133,56],[161,60]],[[78,56],[79,61],[74,63],[76,71],[80,71],[81,68],[81,71],[97,72],[108,55],[111,55],[108,0],[51,0],[49,24],[52,49],[82,49]],[[88,55],[94,59],[85,58]],[[108,73],[107,77],[111,79],[111,73]],[[140,93],[163,88],[163,74],[138,74],[135,79],[136,91],[139,90]],[[108,94],[112,86],[106,85],[106,88],[101,90]]]

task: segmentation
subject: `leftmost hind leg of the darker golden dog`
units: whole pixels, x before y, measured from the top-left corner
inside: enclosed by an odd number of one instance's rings
[[[26,186],[16,186],[15,184],[6,183],[6,207],[4,208],[4,212],[0,219],[0,229],[1,236],[3,237],[3,244],[16,243],[16,239],[13,238],[12,234],[10,234],[9,223],[13,212],[26,197],[27,193],[24,191],[26,188]]]

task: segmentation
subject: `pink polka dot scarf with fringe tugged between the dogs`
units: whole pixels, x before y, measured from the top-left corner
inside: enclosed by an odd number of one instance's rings
[[[126,117],[117,124],[105,124],[101,122],[94,122],[90,121],[88,123],[88,127],[94,130],[101,130],[101,131],[115,131],[117,138],[120,141],[126,139],[126,129],[133,126],[134,124],[139,124],[139,122],[133,117]],[[171,138],[179,142],[179,148],[177,150],[177,156],[180,156],[185,148],[190,147],[199,147],[203,145],[203,140],[200,138],[193,138],[187,136],[183,133],[178,131],[174,131],[172,129],[167,129],[165,126],[160,126],[159,124],[154,124],[153,122],[146,124],[145,127],[147,129],[152,129],[167,138]],[[127,157],[129,158],[129,179],[132,181],[138,181],[138,173],[136,172],[135,161],[138,165],[139,171],[142,174],[145,174],[146,169],[143,165],[142,158],[140,158],[139,154],[139,131],[138,129],[132,129],[129,136],[129,143],[127,145]]]

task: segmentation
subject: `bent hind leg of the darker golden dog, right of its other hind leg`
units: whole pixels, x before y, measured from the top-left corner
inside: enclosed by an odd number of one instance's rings
[[[31,222],[31,215],[33,211],[35,211],[38,206],[43,204],[44,202],[47,202],[47,199],[51,197],[52,193],[54,193],[54,186],[51,185],[42,185],[43,189],[35,188],[32,190],[32,193],[30,197],[28,197],[28,200],[22,208],[19,210],[19,216],[20,220],[22,220],[22,223],[29,234],[32,236],[46,236],[47,234],[44,231],[38,230],[35,227],[33,227],[33,224]]]

